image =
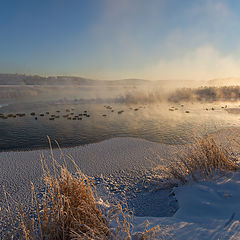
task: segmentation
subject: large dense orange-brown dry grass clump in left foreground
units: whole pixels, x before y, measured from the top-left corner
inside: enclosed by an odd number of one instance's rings
[[[59,170],[59,173],[58,173]],[[54,166],[52,175],[43,162],[45,191],[41,198],[32,184],[35,216],[20,209],[23,239],[108,239],[109,224],[96,202],[92,183],[80,171],[72,175]]]

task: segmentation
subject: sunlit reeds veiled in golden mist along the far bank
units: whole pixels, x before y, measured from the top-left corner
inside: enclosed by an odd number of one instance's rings
[[[156,103],[181,103],[181,102],[238,102],[240,100],[239,86],[224,87],[199,87],[199,88],[176,88],[176,89],[139,89],[132,91],[116,92],[117,96],[75,99],[75,102],[112,102],[125,104],[156,104]]]

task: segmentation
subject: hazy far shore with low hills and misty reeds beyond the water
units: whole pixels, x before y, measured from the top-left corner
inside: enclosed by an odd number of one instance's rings
[[[6,80],[7,79],[7,80]],[[55,101],[56,103],[126,103],[238,101],[240,79],[209,81],[40,77],[0,74],[0,104]]]

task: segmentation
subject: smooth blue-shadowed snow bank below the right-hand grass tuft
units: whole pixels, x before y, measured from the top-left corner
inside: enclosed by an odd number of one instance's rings
[[[215,181],[191,182],[174,188],[180,208],[173,217],[136,217],[134,231],[151,226],[165,229],[167,239],[240,239],[240,173]]]

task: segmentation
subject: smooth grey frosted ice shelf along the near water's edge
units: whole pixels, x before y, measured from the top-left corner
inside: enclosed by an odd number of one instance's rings
[[[177,146],[158,144],[142,139],[114,138],[100,143],[62,149],[71,155],[80,169],[90,176],[120,174],[125,171],[140,171],[173,159]],[[40,155],[51,163],[49,150],[0,153],[0,184],[13,199],[26,203],[30,199],[30,181],[37,187],[42,176]],[[63,163],[61,151],[53,150],[58,162]],[[70,160],[69,169],[74,171]],[[121,173],[120,173],[121,172]],[[3,191],[0,190],[0,205],[3,206]]]

